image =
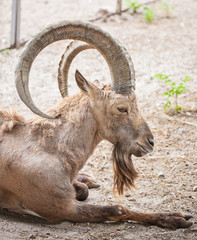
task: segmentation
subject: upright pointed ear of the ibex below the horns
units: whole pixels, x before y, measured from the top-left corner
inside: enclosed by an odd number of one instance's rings
[[[93,97],[96,93],[100,92],[100,90],[94,84],[87,81],[78,70],[75,72],[75,79],[78,87],[88,96]]]

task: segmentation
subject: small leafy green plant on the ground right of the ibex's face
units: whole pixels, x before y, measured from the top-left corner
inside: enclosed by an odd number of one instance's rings
[[[180,83],[173,82],[167,75],[164,74],[156,74],[152,79],[157,78],[164,80],[165,84],[170,85],[169,91],[166,91],[163,93],[164,96],[167,97],[167,102],[164,105],[164,111],[166,112],[166,109],[172,105],[171,99],[172,96],[175,96],[175,114],[180,112],[182,110],[182,107],[179,106],[178,103],[178,96],[181,95],[183,92],[188,92],[189,89],[186,86],[186,83],[191,79],[190,76],[186,76],[183,80],[180,81]]]

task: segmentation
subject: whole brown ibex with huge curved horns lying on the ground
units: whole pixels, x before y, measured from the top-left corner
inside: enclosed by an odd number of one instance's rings
[[[44,47],[63,39],[84,41],[103,55],[111,72],[111,88],[100,89],[76,71],[80,94],[64,97],[43,113],[29,93],[30,68]],[[73,56],[76,54],[74,50]],[[61,74],[59,86],[65,95]],[[88,186],[96,185],[79,171],[101,140],[114,145],[114,185],[119,194],[132,187],[137,176],[132,154],[140,157],[153,150],[153,135],[138,111],[134,87],[127,50],[89,23],[62,22],[30,41],[16,67],[16,88],[21,100],[39,116],[25,120],[16,113],[0,111],[0,207],[50,222],[132,220],[168,228],[191,226],[187,221],[191,216],[183,213],[133,212],[120,205],[82,201],[88,196]]]

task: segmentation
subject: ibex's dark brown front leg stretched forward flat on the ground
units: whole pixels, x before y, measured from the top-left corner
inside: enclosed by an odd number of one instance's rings
[[[192,225],[192,222],[187,221],[192,216],[183,213],[143,213],[120,205],[99,206],[83,203],[75,203],[70,209],[72,214],[68,220],[74,222],[135,221],[170,229],[188,228]]]

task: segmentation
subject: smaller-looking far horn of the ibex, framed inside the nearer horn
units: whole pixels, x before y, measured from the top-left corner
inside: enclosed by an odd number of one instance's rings
[[[58,68],[58,87],[61,96],[64,98],[68,95],[68,72],[70,65],[76,55],[86,49],[93,49],[94,47],[83,42],[73,41],[71,42],[61,57]]]

